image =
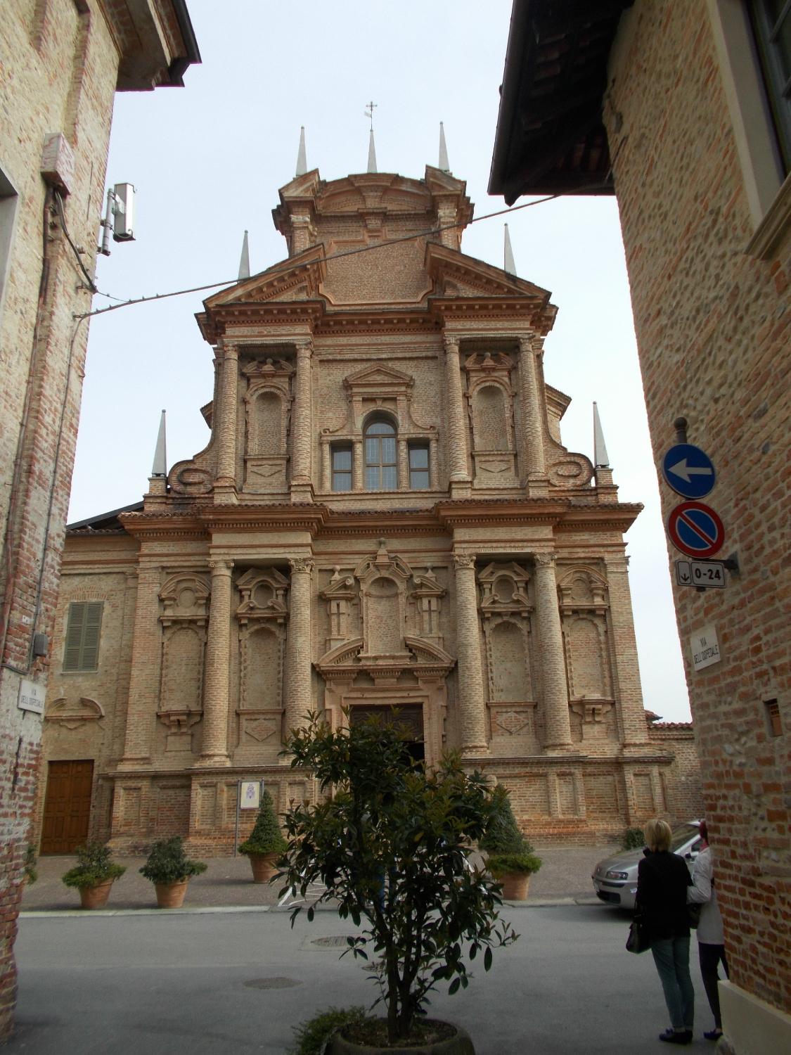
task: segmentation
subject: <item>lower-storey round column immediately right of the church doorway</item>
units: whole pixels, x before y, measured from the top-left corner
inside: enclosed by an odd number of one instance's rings
[[[456,568],[456,647],[459,667],[462,754],[487,754],[486,703],[483,695],[475,556],[456,554],[454,567]]]

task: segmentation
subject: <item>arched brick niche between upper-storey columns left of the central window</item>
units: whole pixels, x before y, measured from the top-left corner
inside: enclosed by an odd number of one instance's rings
[[[245,482],[254,494],[287,490],[293,367],[282,359],[255,360],[242,368],[245,391]]]

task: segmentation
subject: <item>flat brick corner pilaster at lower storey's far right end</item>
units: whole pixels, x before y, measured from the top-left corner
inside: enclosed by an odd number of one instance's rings
[[[633,746],[645,749],[649,729],[642,705],[637,641],[632,618],[632,594],[629,588],[629,561],[625,555],[604,558],[610,594],[611,657],[615,664],[616,707],[625,751]]]

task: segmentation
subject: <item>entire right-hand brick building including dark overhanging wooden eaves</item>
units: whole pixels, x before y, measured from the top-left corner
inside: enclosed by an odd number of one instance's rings
[[[678,417],[714,460],[737,569],[675,602],[739,1055],[791,1048],[789,34],[768,0],[517,0],[489,186],[615,190],[657,465]]]

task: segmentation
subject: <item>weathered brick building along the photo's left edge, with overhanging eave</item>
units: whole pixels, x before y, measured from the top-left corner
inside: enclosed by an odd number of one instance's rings
[[[8,0],[0,33],[0,1040],[116,91],[199,59],[184,0]],[[31,708],[31,709],[25,709]]]

